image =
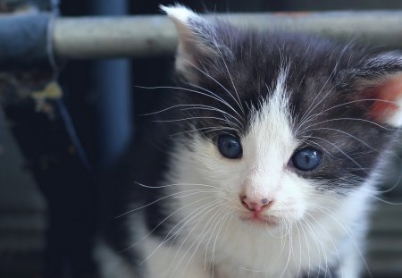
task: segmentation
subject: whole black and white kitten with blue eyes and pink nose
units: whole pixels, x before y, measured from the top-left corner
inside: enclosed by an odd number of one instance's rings
[[[180,87],[113,187],[104,277],[358,277],[402,55],[163,11]]]

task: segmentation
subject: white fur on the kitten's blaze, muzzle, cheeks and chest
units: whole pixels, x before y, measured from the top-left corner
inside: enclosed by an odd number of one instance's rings
[[[339,261],[342,277],[357,277],[360,239],[354,232],[366,214],[370,186],[340,197],[315,190],[316,185],[288,169],[298,142],[284,97],[285,79],[283,72],[273,97],[255,112],[252,129],[241,139],[241,159],[224,158],[212,142],[197,138],[194,153],[176,149],[167,183],[177,184],[172,193],[183,192],[174,215],[180,224],[172,227],[172,235],[179,236],[172,243],[148,242],[150,277],[181,277],[184,272],[185,277],[295,278]],[[245,182],[252,183],[256,194],[275,200],[264,214],[280,218],[279,226],[242,220],[250,213],[239,201]]]

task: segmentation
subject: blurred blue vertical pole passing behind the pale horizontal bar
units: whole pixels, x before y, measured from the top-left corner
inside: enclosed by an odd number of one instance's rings
[[[123,16],[128,11],[127,0],[92,0],[91,13]],[[128,59],[98,60],[93,64],[93,88],[99,138],[98,165],[105,169],[121,156],[131,135],[130,61]]]

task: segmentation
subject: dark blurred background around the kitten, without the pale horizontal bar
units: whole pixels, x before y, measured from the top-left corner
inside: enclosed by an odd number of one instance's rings
[[[0,0],[0,17],[40,11],[62,16],[153,14],[159,13],[158,4],[172,3]],[[180,3],[217,13],[402,10],[402,2],[394,0]],[[23,70],[0,64],[0,277],[96,277],[90,249],[100,173],[113,167],[128,142],[141,133],[138,114],[158,100],[157,93],[134,85],[170,84],[172,61],[172,55],[82,59]],[[57,97],[61,94],[63,100]],[[55,96],[54,101],[46,101],[45,95]],[[400,183],[401,171],[396,157],[384,189]],[[383,198],[400,203],[402,185]],[[367,262],[374,278],[402,277],[402,206],[378,203]]]

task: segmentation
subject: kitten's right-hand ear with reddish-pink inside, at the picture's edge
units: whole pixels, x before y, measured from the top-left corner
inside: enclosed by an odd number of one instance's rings
[[[367,103],[373,99],[367,116],[374,122],[402,127],[402,54],[391,52],[367,59],[349,72],[356,94],[353,98]]]

